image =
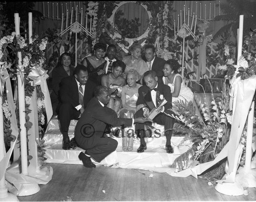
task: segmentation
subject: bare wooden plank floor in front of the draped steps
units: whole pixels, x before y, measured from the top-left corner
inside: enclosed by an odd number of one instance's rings
[[[19,201],[237,201],[256,200],[256,188],[249,195],[228,196],[208,186],[205,179],[173,177],[167,173],[137,169],[82,165],[47,164],[53,176],[47,185]],[[151,176],[151,177],[150,177]]]

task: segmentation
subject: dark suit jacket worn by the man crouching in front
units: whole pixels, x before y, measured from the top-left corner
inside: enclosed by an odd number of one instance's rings
[[[132,119],[118,118],[116,112],[103,107],[96,97],[92,98],[79,118],[75,128],[75,138],[77,143],[84,142],[94,136],[103,136],[107,132],[106,125],[112,126],[132,126]]]

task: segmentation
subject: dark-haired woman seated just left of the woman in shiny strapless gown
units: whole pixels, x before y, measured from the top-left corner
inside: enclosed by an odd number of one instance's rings
[[[114,109],[116,113],[121,107],[121,87],[125,85],[125,79],[121,74],[124,72],[125,66],[121,60],[114,61],[113,71],[101,77],[101,85],[106,86],[111,92],[107,107]]]

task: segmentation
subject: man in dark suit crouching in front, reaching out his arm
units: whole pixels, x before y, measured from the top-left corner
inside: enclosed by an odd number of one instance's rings
[[[101,162],[106,156],[116,150],[117,141],[106,136],[107,124],[112,126],[132,126],[133,123],[148,121],[142,117],[136,119],[118,118],[116,112],[106,107],[110,101],[110,92],[105,86],[95,88],[95,97],[88,103],[75,128],[75,140],[78,146],[85,152],[81,152],[78,158],[88,168],[95,168],[91,157]],[[152,120],[151,120],[152,121]]]

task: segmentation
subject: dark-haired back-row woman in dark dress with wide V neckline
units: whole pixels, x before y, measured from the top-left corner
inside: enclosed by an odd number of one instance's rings
[[[96,43],[93,47],[94,55],[82,60],[82,64],[87,67],[89,79],[100,85],[101,76],[105,74],[106,60],[103,58],[106,51],[104,43]]]

